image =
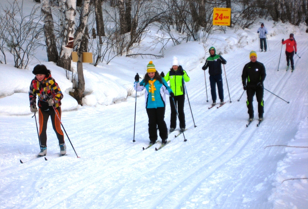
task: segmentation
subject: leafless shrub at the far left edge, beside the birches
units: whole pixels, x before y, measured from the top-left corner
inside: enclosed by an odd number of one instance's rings
[[[1,7],[1,52],[9,50],[14,57],[14,67],[26,68],[34,58],[36,49],[43,38],[43,25],[40,17],[35,15],[39,7],[34,7],[30,15],[23,12],[23,1]],[[5,43],[5,45],[3,45]]]

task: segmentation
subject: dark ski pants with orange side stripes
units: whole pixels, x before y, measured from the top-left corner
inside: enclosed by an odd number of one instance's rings
[[[56,108],[57,114],[59,118],[61,119],[61,107]],[[51,118],[51,123],[52,127],[58,137],[59,144],[64,143],[64,134],[63,131],[61,130],[61,123],[60,120],[58,119],[57,115],[55,114],[55,110],[50,110],[50,111],[44,111],[39,108],[39,139],[41,141],[41,146],[47,146],[47,122],[48,118]]]

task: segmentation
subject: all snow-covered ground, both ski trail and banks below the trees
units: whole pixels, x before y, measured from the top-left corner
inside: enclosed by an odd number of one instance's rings
[[[58,157],[58,140],[49,122],[48,161],[19,162],[39,152],[27,93],[36,63],[29,70],[0,64],[0,208],[308,208],[308,148],[300,148],[308,146],[308,36],[303,26],[264,22],[270,49],[265,53],[258,50],[256,25],[214,33],[205,44],[170,45],[161,59],[116,57],[98,67],[84,64],[84,106],[69,96],[72,83],[65,71],[44,62],[64,94],[62,122],[80,158],[66,136],[69,155]],[[281,39],[289,33],[295,34],[301,58],[295,55],[294,72],[286,72],[283,46],[277,71]],[[212,45],[227,60],[232,103],[223,73],[227,103],[209,110],[209,74],[201,67]],[[290,103],[265,91],[265,120],[260,127],[254,121],[247,128],[245,93],[237,99],[243,93],[241,73],[251,50],[265,65],[265,88]],[[135,92],[127,96],[128,91],[136,72],[143,77],[150,60],[166,73],[172,56],[191,78],[186,87],[197,127],[186,99],[187,142],[183,135],[170,134],[171,143],[163,149],[143,151],[149,142],[144,96],[138,93],[133,143]],[[256,99],[254,109],[257,113]],[[169,127],[168,102],[165,121]],[[270,145],[289,147],[266,147]]]

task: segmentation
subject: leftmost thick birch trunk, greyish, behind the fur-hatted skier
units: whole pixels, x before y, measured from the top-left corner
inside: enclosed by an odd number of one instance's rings
[[[59,59],[59,54],[56,46],[54,20],[52,18],[49,0],[42,0],[41,11],[44,15],[44,34],[47,49],[47,58],[49,62],[57,62]]]

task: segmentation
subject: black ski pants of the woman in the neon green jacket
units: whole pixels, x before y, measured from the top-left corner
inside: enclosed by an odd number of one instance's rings
[[[176,128],[176,108],[179,113],[180,120],[180,128],[185,128],[185,114],[184,114],[184,103],[185,103],[185,95],[174,96],[174,103],[177,106],[174,106],[172,97],[169,97],[170,107],[171,107],[171,118],[170,118],[170,128]]]

